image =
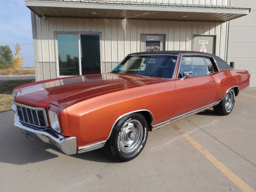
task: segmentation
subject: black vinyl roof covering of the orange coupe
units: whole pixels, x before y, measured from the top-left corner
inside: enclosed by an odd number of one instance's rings
[[[154,55],[154,54],[156,54],[156,55],[157,54],[174,54],[174,55],[176,54],[176,55],[178,55],[178,54],[195,54],[195,53],[212,56],[215,59],[220,71],[227,70],[227,69],[233,69],[232,67],[230,67],[228,65],[228,63],[226,61],[224,61],[220,57],[210,54],[210,53],[204,53],[204,52],[198,52],[198,51],[148,51],[148,52],[131,53],[128,56],[131,56],[131,55]]]

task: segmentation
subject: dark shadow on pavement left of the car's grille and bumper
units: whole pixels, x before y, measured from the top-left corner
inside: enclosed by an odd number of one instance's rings
[[[0,113],[0,122],[0,162],[24,165],[58,157],[48,151],[50,145],[21,134],[13,125],[12,111]]]

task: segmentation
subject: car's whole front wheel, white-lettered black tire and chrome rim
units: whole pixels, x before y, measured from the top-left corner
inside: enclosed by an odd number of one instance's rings
[[[129,114],[113,127],[105,151],[111,157],[126,162],[137,157],[148,138],[148,123],[140,113]]]

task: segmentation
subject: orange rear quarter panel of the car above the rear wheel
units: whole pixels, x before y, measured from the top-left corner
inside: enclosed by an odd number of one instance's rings
[[[213,74],[213,78],[218,86],[219,100],[225,97],[227,90],[231,87],[238,86],[239,90],[243,90],[250,84],[250,74],[246,70],[223,70]]]

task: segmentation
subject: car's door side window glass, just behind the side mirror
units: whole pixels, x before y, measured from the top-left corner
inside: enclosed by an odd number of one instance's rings
[[[185,71],[192,71],[193,77],[209,75],[204,58],[198,56],[182,57],[178,78],[183,77],[183,72]]]

